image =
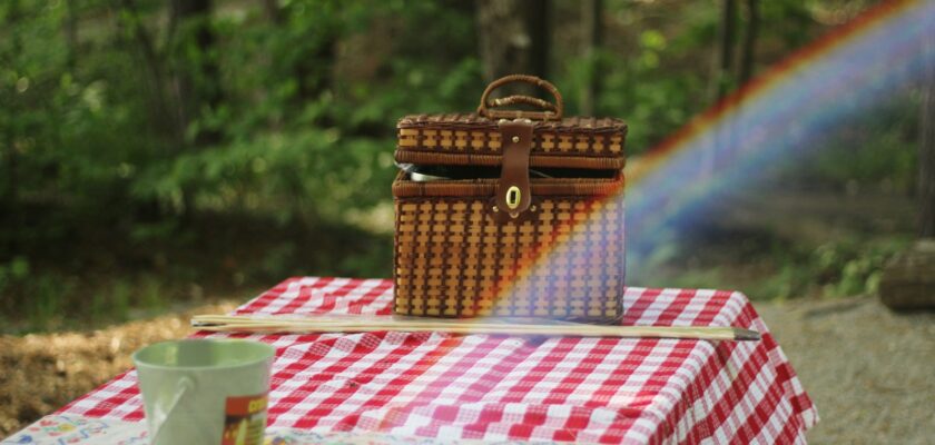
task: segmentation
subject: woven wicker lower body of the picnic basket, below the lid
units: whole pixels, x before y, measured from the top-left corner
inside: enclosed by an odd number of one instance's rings
[[[488,201],[396,199],[396,314],[619,319],[622,205],[548,196],[533,219],[496,224]]]

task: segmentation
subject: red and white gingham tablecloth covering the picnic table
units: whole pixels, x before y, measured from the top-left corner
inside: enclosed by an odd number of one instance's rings
[[[237,314],[388,315],[392,283],[292,278]],[[579,443],[804,443],[817,413],[739,293],[628,288],[628,325],[742,326],[758,343],[374,333],[224,335],[277,348],[272,426]],[[59,414],[141,421],[127,372]]]

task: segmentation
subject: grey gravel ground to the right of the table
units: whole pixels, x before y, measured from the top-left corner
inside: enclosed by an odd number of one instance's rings
[[[935,443],[935,314],[877,298],[755,306],[818,407],[810,443]]]

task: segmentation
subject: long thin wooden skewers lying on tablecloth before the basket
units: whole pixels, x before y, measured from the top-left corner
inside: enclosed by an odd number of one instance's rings
[[[385,318],[385,319],[381,319]],[[237,315],[197,315],[191,326],[210,332],[246,333],[407,333],[513,334],[623,338],[686,338],[706,340],[758,340],[756,330],[718,326],[602,326],[585,324],[503,324],[464,320],[420,320],[392,317],[256,317]]]

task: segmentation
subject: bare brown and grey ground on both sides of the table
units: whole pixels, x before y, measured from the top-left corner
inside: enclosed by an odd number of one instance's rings
[[[90,333],[0,337],[0,437],[130,366],[142,345],[189,333],[203,306]],[[821,421],[809,442],[935,441],[935,314],[895,315],[876,298],[757,303]]]

